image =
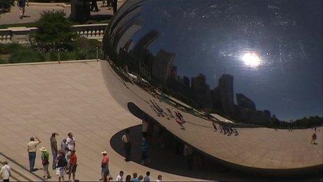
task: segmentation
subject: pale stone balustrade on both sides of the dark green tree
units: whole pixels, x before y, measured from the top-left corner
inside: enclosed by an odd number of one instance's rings
[[[102,40],[104,30],[108,24],[81,24],[71,26],[71,30],[79,36]],[[10,27],[8,29],[0,29],[0,43],[22,43],[30,44],[31,35],[38,31],[36,27]]]

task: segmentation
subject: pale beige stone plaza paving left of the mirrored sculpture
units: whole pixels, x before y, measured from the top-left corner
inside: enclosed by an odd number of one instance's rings
[[[114,179],[120,170],[125,174],[145,174],[149,170],[152,180],[161,174],[166,181],[199,181],[125,162],[113,151],[111,137],[141,121],[113,100],[104,85],[99,62],[0,66],[0,75],[0,151],[23,167],[29,167],[29,137],[40,137],[38,149],[50,149],[52,132],[59,133],[58,144],[73,132],[77,139],[77,179],[81,181],[100,179],[101,151],[108,151]],[[40,151],[36,167],[42,167]],[[49,171],[54,176],[54,170]],[[40,170],[35,173],[42,176]]]

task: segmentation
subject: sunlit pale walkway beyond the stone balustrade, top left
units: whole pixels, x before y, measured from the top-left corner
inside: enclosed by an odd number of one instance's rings
[[[31,3],[30,6],[26,6],[26,17],[22,20],[19,19],[19,10],[18,7],[15,6],[11,9],[10,13],[6,13],[0,16],[0,24],[24,24],[29,22],[36,22],[43,11],[47,10],[63,10],[66,15],[70,16],[70,5],[61,6],[61,3]],[[100,7],[102,2],[97,3],[99,6],[99,12],[91,12],[91,15],[113,15],[113,10],[111,7]],[[118,7],[123,4],[123,1],[118,1]]]

